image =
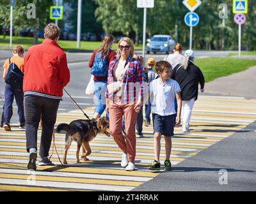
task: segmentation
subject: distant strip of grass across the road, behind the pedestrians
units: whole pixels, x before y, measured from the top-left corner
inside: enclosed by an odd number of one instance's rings
[[[43,39],[39,38],[38,41],[39,43],[42,43]],[[77,41],[60,40],[58,41],[58,44],[65,51],[78,50]],[[33,45],[33,38],[13,36],[13,45],[22,45],[26,50],[28,50],[28,48]],[[100,47],[100,45],[102,45],[102,42],[99,41],[81,41],[80,50],[95,50],[95,48]],[[0,48],[10,48],[9,36],[3,38],[3,35],[0,35]],[[135,49],[142,49],[142,46],[135,46]],[[117,50],[117,43],[114,43],[113,50]]]

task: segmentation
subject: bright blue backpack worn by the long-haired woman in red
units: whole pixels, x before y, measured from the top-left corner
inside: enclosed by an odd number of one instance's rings
[[[96,77],[108,76],[108,58],[106,56],[101,58],[100,51],[94,57],[92,75]]]

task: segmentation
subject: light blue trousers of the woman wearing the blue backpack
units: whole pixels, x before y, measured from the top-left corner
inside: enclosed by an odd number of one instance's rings
[[[107,82],[94,82],[94,97],[96,99],[95,112],[101,115],[106,109],[106,87]]]

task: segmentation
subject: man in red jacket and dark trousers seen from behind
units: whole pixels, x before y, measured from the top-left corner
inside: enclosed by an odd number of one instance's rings
[[[24,59],[23,91],[29,170],[36,170],[37,131],[41,117],[41,159],[38,165],[52,165],[48,159],[52,133],[63,87],[70,80],[66,54],[57,44],[60,38],[59,27],[52,23],[46,25],[44,38],[42,44],[29,48]]]

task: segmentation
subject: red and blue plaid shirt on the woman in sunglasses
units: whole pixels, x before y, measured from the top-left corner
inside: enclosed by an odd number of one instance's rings
[[[118,66],[120,57],[116,57],[115,60],[111,61],[108,69],[108,84],[116,82],[117,79],[113,76],[113,70],[115,70]],[[131,61],[131,62],[130,62]],[[137,59],[129,56],[126,59],[125,66],[129,63],[127,70],[125,71],[123,85],[122,85],[122,103],[133,103],[138,100],[139,94],[141,98],[143,98],[143,85],[144,85],[144,73],[143,67]],[[137,89],[136,89],[137,87]],[[115,101],[116,93],[109,94],[108,88],[106,89],[106,98],[110,101]]]

